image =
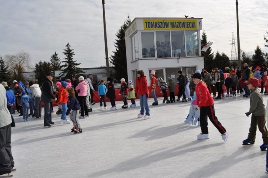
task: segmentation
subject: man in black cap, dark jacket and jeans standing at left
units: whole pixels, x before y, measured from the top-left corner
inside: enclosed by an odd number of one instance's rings
[[[42,85],[42,94],[41,94],[41,101],[44,102],[44,127],[51,127],[50,124],[54,124],[51,120],[51,113],[52,109],[50,106],[50,102],[53,100],[57,100],[54,96],[54,87],[53,87],[53,76],[51,73],[46,74],[47,78]]]

